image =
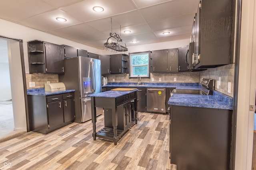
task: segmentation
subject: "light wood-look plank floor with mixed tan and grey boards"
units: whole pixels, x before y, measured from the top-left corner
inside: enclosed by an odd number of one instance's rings
[[[139,112],[118,141],[92,138],[92,123],[72,123],[47,135],[29,132],[0,143],[0,169],[176,170],[169,159],[169,117]],[[96,130],[104,126],[97,117]]]

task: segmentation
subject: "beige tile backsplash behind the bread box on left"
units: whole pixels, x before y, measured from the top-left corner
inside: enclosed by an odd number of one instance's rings
[[[58,83],[58,74],[26,74],[27,89],[44,88],[44,83]],[[29,87],[29,82],[35,82],[35,87]]]

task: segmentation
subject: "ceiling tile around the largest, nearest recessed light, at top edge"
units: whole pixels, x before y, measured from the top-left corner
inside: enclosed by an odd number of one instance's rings
[[[92,10],[94,6],[101,6],[104,11],[94,12]],[[84,0],[61,9],[84,22],[136,10],[130,0],[112,0],[111,2],[106,0]]]

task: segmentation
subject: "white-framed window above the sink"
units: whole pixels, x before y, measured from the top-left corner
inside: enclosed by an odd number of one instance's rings
[[[149,77],[149,52],[130,53],[130,77]]]

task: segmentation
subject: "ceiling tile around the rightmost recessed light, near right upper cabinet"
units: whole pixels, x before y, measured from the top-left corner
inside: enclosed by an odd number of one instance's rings
[[[164,32],[170,32],[168,35],[164,35]],[[185,27],[178,27],[178,28],[172,28],[172,29],[164,29],[160,31],[155,31],[157,37],[168,37],[172,35],[180,35],[180,34],[187,34],[190,33],[191,35],[192,31],[192,25],[191,26],[185,26]]]

